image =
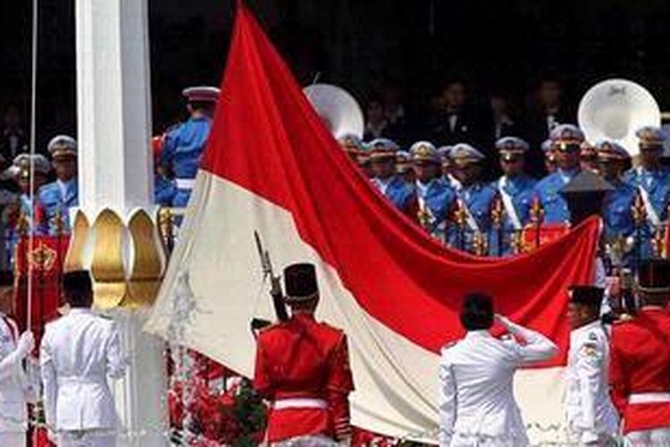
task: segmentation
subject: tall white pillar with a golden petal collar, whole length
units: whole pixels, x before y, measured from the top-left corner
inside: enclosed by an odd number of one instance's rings
[[[163,342],[142,333],[163,273],[149,147],[147,0],[76,0],[80,208],[66,269],[89,268],[96,307],[130,358],[113,384],[119,445],[167,445]]]

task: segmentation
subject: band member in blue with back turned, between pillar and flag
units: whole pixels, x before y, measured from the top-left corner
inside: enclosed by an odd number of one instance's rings
[[[177,191],[172,207],[186,207],[188,204],[220,90],[215,87],[190,87],[182,94],[188,99],[190,117],[167,133],[161,154],[161,164],[175,177]]]

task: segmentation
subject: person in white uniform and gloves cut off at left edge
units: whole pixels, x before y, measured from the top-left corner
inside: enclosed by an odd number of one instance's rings
[[[0,275],[0,301],[8,305],[12,294],[12,277]],[[23,359],[35,347],[30,332],[19,336],[16,323],[0,308],[0,445],[25,447],[28,429],[28,401],[32,388],[23,370]]]

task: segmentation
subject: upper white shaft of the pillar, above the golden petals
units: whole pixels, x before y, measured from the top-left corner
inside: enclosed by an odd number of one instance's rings
[[[77,0],[80,208],[127,215],[153,196],[147,0]]]

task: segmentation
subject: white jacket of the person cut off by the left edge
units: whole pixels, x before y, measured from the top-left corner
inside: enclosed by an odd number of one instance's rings
[[[0,432],[28,428],[29,383],[16,352],[19,331],[13,320],[0,313]]]

